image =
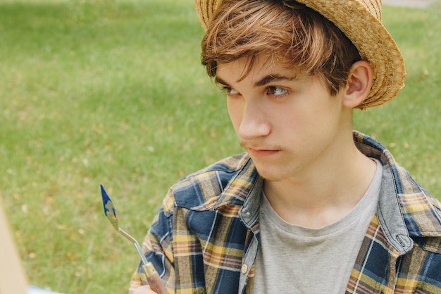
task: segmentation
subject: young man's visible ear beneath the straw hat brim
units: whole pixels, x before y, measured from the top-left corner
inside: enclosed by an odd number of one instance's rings
[[[371,91],[372,81],[372,68],[367,61],[356,61],[352,64],[344,90],[343,105],[349,108],[359,106]]]

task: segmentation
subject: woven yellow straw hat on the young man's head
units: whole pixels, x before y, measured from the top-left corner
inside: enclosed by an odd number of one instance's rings
[[[204,30],[223,0],[194,0]],[[373,85],[359,108],[378,106],[404,87],[406,69],[397,44],[381,23],[381,0],[297,0],[332,21],[373,69]]]

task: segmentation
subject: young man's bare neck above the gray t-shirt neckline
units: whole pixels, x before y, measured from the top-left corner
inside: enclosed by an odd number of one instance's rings
[[[375,174],[375,161],[354,143],[341,157],[330,157],[299,176],[264,181],[263,190],[275,212],[289,223],[319,228],[341,219],[361,200]]]

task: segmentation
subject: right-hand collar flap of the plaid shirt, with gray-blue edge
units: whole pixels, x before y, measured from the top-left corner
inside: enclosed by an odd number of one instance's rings
[[[411,247],[412,237],[441,236],[440,202],[421,188],[379,142],[356,131],[354,141],[366,156],[383,164],[378,220],[390,243],[402,252]]]

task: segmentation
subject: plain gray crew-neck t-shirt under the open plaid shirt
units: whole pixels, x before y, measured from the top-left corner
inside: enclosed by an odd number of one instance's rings
[[[383,167],[349,214],[322,228],[287,223],[261,197],[254,293],[342,294],[378,204]]]

